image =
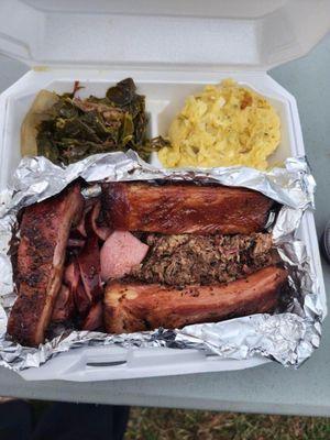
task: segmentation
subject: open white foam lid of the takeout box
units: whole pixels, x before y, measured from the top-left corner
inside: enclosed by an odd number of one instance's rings
[[[0,2],[0,52],[30,66],[267,70],[329,29],[329,0]]]

